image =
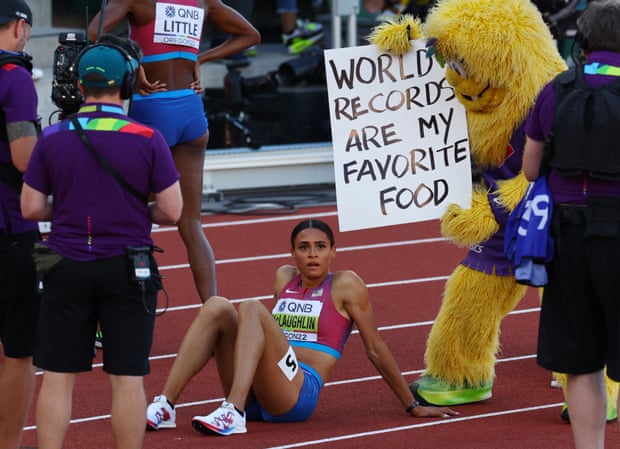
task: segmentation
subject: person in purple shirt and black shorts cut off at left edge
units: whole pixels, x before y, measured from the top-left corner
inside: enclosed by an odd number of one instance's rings
[[[0,2],[0,448],[19,447],[35,386],[32,356],[39,298],[32,248],[36,222],[19,208],[22,172],[37,140],[37,93],[30,57],[32,12],[23,0]]]

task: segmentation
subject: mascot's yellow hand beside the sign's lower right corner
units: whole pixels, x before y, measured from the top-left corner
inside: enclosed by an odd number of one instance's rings
[[[471,208],[450,204],[441,217],[441,234],[457,246],[470,247],[491,238],[499,230],[486,189],[475,188]]]

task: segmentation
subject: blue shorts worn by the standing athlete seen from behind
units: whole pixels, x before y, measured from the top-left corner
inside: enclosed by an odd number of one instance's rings
[[[169,147],[196,140],[209,129],[202,97],[192,89],[134,95],[129,116],[158,129]]]

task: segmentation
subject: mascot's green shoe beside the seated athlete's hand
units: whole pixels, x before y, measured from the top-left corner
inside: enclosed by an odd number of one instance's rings
[[[433,376],[422,376],[409,389],[416,400],[422,405],[450,406],[469,404],[489,399],[492,396],[493,384],[477,387],[450,385]]]

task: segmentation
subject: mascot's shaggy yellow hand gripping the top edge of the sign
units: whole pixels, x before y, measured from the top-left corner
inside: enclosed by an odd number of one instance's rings
[[[422,22],[420,19],[403,14],[397,20],[388,20],[374,27],[367,39],[381,50],[400,56],[411,50],[409,41],[421,37]]]

